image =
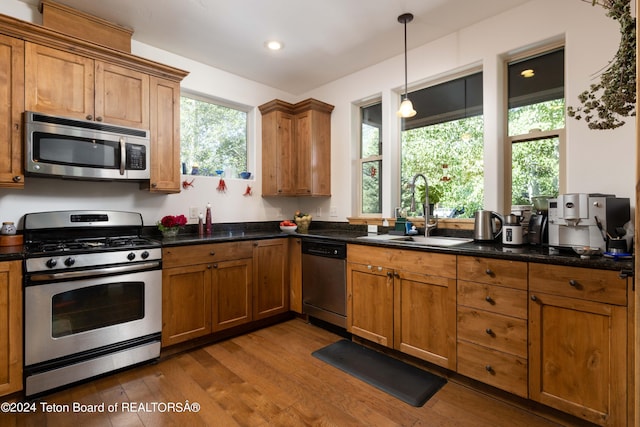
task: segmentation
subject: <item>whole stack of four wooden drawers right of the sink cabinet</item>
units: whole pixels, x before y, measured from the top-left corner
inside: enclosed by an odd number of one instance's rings
[[[458,367],[527,397],[527,263],[458,257]]]

